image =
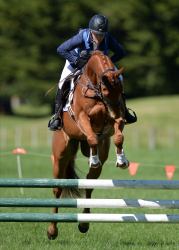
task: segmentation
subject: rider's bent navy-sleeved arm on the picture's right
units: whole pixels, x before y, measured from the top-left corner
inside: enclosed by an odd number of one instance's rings
[[[111,61],[113,63],[116,63],[117,61],[119,61],[123,57],[125,57],[126,52],[125,52],[124,48],[110,34],[109,34],[109,38],[108,38],[108,47],[112,52],[114,52],[114,54],[111,57]]]

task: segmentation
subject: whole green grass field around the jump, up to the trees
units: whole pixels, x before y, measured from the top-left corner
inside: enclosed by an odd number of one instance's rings
[[[173,99],[172,99],[173,98]],[[148,125],[155,125],[157,130],[167,129],[172,125],[178,136],[178,97],[149,98],[131,101],[130,106],[138,113],[139,121],[126,128],[125,154],[131,162],[139,162],[139,168],[135,176],[131,176],[128,170],[115,168],[115,150],[111,143],[108,161],[103,167],[101,179],[148,179],[167,180],[165,165],[175,165],[177,168],[172,180],[179,179],[178,141],[173,148],[168,148],[165,142],[160,142],[155,150],[147,147],[133,148],[128,142],[128,131],[132,127],[138,127],[140,132]],[[165,101],[164,101],[165,99]],[[168,110],[168,106],[170,109]],[[156,106],[157,109],[155,108]],[[149,107],[150,106],[150,107]],[[146,109],[147,107],[148,110]],[[165,110],[165,111],[164,111]],[[162,120],[163,119],[163,120]],[[48,118],[38,120],[38,125],[46,126]],[[11,123],[9,123],[11,122]],[[2,125],[13,126],[21,122],[24,126],[35,125],[36,120],[23,118],[15,119],[3,116]],[[178,138],[178,137],[177,137]],[[145,138],[142,137],[143,142]],[[177,139],[178,140],[178,139]],[[141,145],[143,145],[141,143]],[[0,177],[18,178],[17,158],[12,154],[14,145],[1,148]],[[25,147],[27,154],[21,155],[21,167],[23,178],[53,178],[51,163],[51,148],[39,146],[36,148]],[[78,153],[76,164],[80,178],[85,178],[88,173],[87,159]],[[19,188],[4,188],[0,191],[0,197],[22,197]],[[25,198],[53,198],[52,189],[24,189]],[[93,198],[122,198],[122,199],[178,199],[177,190],[94,190]],[[0,208],[1,212],[41,212],[51,213],[52,208]],[[60,212],[80,213],[82,209],[63,208]],[[92,209],[92,213],[155,213],[175,214],[178,210],[154,210],[154,209]],[[49,241],[46,230],[49,223],[1,223],[0,249],[179,249],[179,225],[178,224],[120,224],[120,223],[91,223],[86,234],[78,231],[76,223],[58,224],[59,235],[56,240]]]

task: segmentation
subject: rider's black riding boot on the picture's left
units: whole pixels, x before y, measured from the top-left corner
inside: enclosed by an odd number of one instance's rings
[[[48,129],[52,131],[59,131],[62,127],[62,112],[63,112],[63,98],[61,90],[58,87],[55,96],[55,115],[49,120]]]

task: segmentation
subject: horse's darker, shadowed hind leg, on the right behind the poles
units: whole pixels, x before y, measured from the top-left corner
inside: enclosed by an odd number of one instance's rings
[[[99,159],[101,161],[101,165],[98,165],[97,167],[93,167],[93,166],[90,167],[89,173],[87,174],[87,179],[99,178],[101,171],[102,171],[102,166],[108,158],[109,147],[110,147],[109,138],[100,142],[98,153],[99,153]],[[86,189],[86,199],[91,199],[92,192],[93,192],[93,189]],[[90,208],[85,208],[83,210],[83,213],[90,213]],[[78,228],[81,233],[86,233],[89,229],[89,223],[79,223]]]

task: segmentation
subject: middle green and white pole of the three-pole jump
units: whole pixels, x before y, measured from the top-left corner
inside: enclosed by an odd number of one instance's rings
[[[0,198],[0,207],[179,209],[179,200]]]

